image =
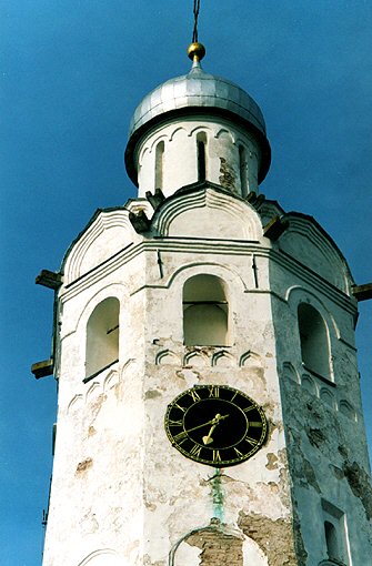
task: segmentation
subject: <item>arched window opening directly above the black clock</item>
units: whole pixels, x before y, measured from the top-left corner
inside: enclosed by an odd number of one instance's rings
[[[229,305],[224,282],[214,275],[194,275],[183,286],[183,337],[188,346],[225,346]]]

